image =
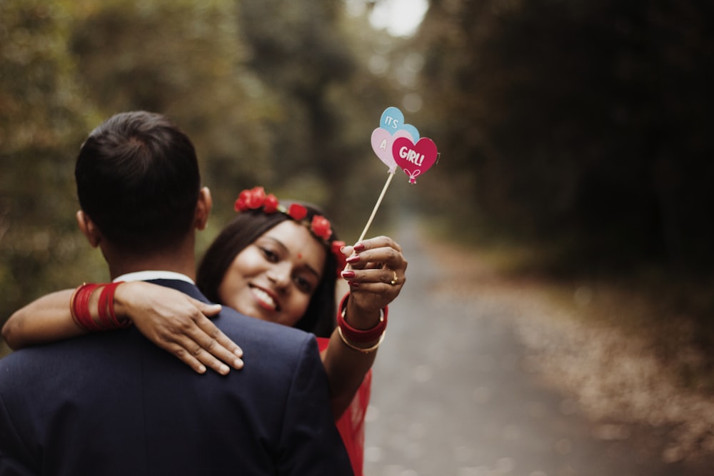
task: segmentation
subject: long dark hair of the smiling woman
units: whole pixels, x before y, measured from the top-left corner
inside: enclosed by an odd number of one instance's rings
[[[307,203],[300,204],[308,210],[306,217],[308,221],[311,221],[315,215],[323,215],[315,206]],[[213,240],[198,265],[196,285],[206,295],[206,298],[214,303],[221,303],[218,298],[218,287],[236,255],[278,223],[291,219],[284,213],[264,213],[262,209],[238,213],[236,218],[233,218],[233,221],[223,228],[216,240]],[[329,241],[333,240],[336,240],[334,232]],[[322,279],[313,293],[305,314],[294,326],[318,337],[329,337],[336,324],[337,260],[328,245],[325,245],[325,249],[326,259]]]

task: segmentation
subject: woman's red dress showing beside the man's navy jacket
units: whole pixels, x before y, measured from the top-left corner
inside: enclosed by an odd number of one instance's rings
[[[317,338],[318,348],[322,352],[327,348],[328,338]],[[369,404],[372,385],[372,370],[368,370],[362,384],[357,389],[350,406],[335,423],[340,431],[347,454],[352,462],[355,476],[363,476],[364,464],[364,416]]]

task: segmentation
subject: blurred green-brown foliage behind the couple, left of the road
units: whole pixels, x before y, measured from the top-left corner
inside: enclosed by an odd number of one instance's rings
[[[76,230],[73,171],[87,133],[119,111],[166,113],[193,139],[214,201],[199,254],[258,183],[323,204],[338,228],[366,220],[383,174],[348,178],[383,171],[368,136],[386,87],[369,48],[350,47],[355,23],[331,1],[1,1],[0,322],[106,279]]]

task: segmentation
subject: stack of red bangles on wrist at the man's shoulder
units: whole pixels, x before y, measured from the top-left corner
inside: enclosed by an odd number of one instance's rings
[[[114,312],[114,293],[116,287],[121,283],[124,283],[124,281],[109,284],[84,283],[79,288],[76,288],[71,300],[69,300],[69,311],[76,325],[88,332],[129,327],[131,320],[129,318],[117,318]],[[94,320],[91,310],[89,310],[89,301],[92,293],[98,288],[101,288],[99,309],[97,310],[99,320]]]

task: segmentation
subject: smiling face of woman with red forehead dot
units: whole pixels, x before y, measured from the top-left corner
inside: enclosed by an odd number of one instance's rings
[[[236,255],[218,298],[253,318],[293,326],[322,279],[326,250],[308,229],[282,221]]]

